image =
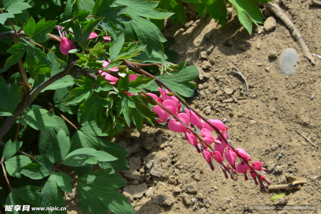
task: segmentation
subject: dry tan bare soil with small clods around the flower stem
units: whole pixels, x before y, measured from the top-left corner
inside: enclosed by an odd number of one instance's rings
[[[183,27],[169,25],[164,34],[175,40],[170,49],[178,53],[177,63],[187,60],[199,67],[199,96],[189,100],[191,106],[209,119],[225,121],[231,144],[244,148],[253,161],[261,161],[273,184],[288,183],[288,175],[305,178],[307,183],[299,190],[260,193],[258,186],[244,181],[243,176],[237,182],[225,179],[218,164],[212,172],[183,134],[170,132],[165,126],[145,125],[141,134],[127,129],[115,140],[131,153],[128,160],[133,170],[118,172],[128,180],[123,194],[138,214],[261,213],[245,209],[245,203],[320,204],[321,181],[315,177],[321,174],[321,60],[315,57],[316,65],[312,66],[288,29],[263,8],[265,19],[273,17],[276,26],[269,21],[266,29],[270,31],[255,27],[252,35],[241,26],[234,10],[222,29],[210,17],[195,20],[193,9],[187,9],[191,22]],[[321,8],[309,6],[309,1],[292,0],[283,9],[311,53],[321,55]],[[279,70],[279,56],[286,48],[299,54],[297,72],[292,76]],[[247,78],[248,96],[243,80],[226,73],[234,66]],[[286,192],[285,198],[270,200],[280,192]]]

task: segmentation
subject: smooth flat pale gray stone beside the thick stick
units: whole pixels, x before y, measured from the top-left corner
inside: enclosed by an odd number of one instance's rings
[[[293,48],[285,49],[279,58],[279,69],[283,74],[292,75],[296,73],[296,65],[299,60],[297,51]]]

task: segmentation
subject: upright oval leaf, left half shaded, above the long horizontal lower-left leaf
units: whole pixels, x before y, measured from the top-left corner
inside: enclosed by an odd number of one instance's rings
[[[53,159],[56,164],[59,164],[69,153],[70,139],[63,129],[60,129],[58,134],[52,138]]]

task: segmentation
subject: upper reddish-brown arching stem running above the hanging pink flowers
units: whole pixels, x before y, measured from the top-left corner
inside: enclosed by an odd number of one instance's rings
[[[143,69],[141,69],[139,66],[137,65],[134,65],[132,62],[130,61],[127,61],[127,60],[122,60],[123,61],[123,64],[126,65],[128,68],[132,69],[132,70],[135,70],[135,71],[138,71],[139,73],[145,75],[146,77],[150,77],[150,78],[155,78],[155,82],[158,86],[160,87],[163,87],[163,88],[166,88],[168,91],[170,92],[173,92],[167,85],[165,85],[165,83],[163,83],[160,79],[156,78],[155,76],[153,76],[152,74],[144,71]],[[174,92],[173,92],[174,93]],[[174,93],[175,94],[175,93]],[[225,139],[224,135],[220,132],[220,130],[218,130],[215,126],[213,126],[213,124],[211,124],[210,121],[208,121],[204,116],[202,116],[201,114],[199,114],[197,111],[195,111],[195,109],[193,109],[190,105],[187,104],[187,102],[185,100],[183,100],[182,98],[180,98],[179,96],[177,96],[175,94],[175,97],[182,103],[184,104],[187,108],[189,108],[190,110],[192,110],[197,116],[199,116],[204,122],[206,122],[209,126],[211,126],[215,132],[221,136],[221,138],[224,140],[224,142],[230,146],[230,148],[233,150],[233,152],[236,153],[236,155],[241,159],[243,160],[245,163],[247,163],[248,167],[256,173],[256,175],[258,176],[258,173],[253,170],[253,168],[251,167],[250,165],[250,162],[245,160],[240,154],[239,152],[229,143],[227,142],[227,139]],[[164,107],[165,109],[165,107]],[[194,134],[194,133],[193,133]]]

